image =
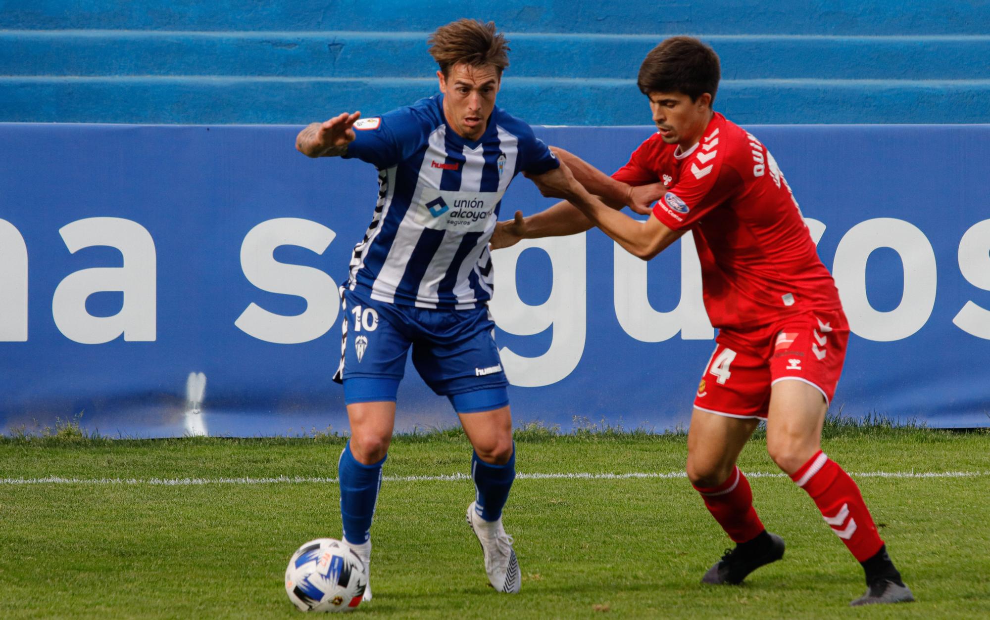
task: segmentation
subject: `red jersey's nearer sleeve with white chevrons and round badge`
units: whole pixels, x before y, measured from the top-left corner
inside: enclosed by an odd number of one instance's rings
[[[716,150],[699,148],[692,154],[677,185],[653,206],[656,219],[671,230],[690,228],[739,191],[743,178],[732,166],[723,165],[724,159]]]

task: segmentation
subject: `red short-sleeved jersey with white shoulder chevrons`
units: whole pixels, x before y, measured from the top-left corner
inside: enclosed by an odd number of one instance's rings
[[[612,176],[631,185],[662,180],[668,188],[653,216],[694,234],[713,326],[743,328],[808,310],[841,310],[832,274],[777,162],[721,114],[683,152],[653,134]]]

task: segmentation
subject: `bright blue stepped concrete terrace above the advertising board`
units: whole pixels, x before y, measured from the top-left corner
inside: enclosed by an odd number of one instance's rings
[[[990,0],[8,0],[0,121],[301,124],[436,91],[430,32],[494,20],[500,103],[533,124],[644,125],[646,51],[720,53],[747,124],[990,122]]]

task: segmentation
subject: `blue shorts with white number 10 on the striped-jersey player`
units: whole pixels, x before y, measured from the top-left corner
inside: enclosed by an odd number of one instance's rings
[[[506,388],[487,308],[437,310],[377,302],[345,289],[343,350],[334,381],[402,379],[406,356],[436,394]]]

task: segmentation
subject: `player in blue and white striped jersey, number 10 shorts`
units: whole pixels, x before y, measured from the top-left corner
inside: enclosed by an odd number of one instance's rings
[[[378,169],[378,200],[342,287],[350,440],[339,477],[344,540],[370,560],[370,527],[412,348],[424,381],[446,396],[474,447],[467,521],[491,585],[518,592],[521,574],[502,508],[515,478],[508,382],[488,312],[488,240],[518,173],[573,196],[584,189],[523,121],[495,105],[508,45],[491,22],[458,20],[430,38],[441,94],[380,117],[343,113],[299,133],[310,157],[356,158]],[[620,187],[620,184],[615,186]],[[625,187],[625,185],[622,185]],[[646,209],[649,197],[617,200]],[[365,592],[370,598],[370,588]]]

